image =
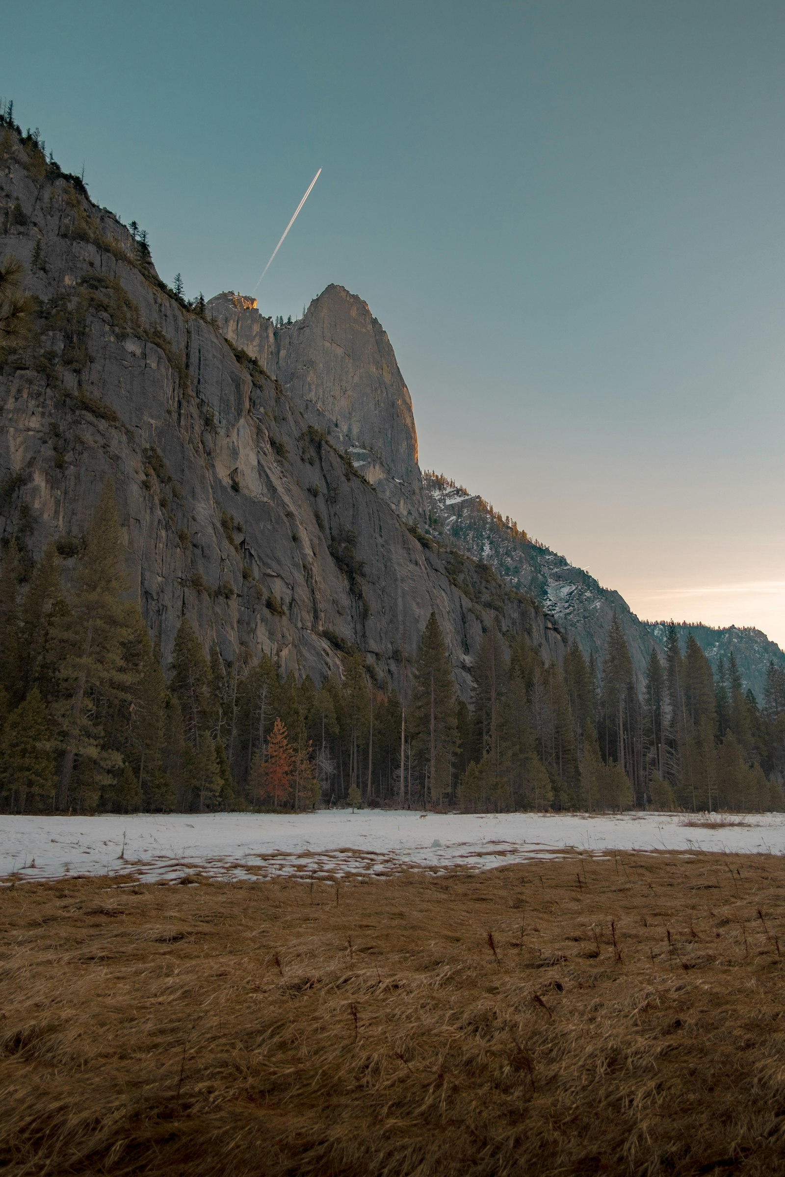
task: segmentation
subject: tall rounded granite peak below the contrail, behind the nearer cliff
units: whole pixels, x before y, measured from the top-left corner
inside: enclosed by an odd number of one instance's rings
[[[225,292],[207,315],[331,431],[379,493],[407,518],[424,510],[412,399],[395,353],[367,302],[328,286],[301,319],[275,327],[255,299]],[[334,431],[334,432],[332,432]]]

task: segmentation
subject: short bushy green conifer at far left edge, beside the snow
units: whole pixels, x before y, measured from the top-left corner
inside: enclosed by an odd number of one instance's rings
[[[0,739],[0,787],[13,812],[41,811],[54,798],[52,720],[36,687],[12,711]]]

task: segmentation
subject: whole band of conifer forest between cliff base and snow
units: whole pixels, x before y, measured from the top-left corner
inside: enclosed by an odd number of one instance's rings
[[[71,548],[67,553],[73,554]],[[107,484],[67,586],[54,544],[0,564],[0,807],[6,812],[783,807],[785,671],[761,704],[667,633],[638,684],[613,618],[601,666],[546,665],[493,619],[457,691],[431,614],[398,651],[400,691],[358,650],[317,684],[273,659],[225,663],[187,619],[164,665],[135,603]]]

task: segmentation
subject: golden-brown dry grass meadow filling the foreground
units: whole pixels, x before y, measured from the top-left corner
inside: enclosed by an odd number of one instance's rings
[[[785,863],[0,892],[7,1177],[785,1172]]]

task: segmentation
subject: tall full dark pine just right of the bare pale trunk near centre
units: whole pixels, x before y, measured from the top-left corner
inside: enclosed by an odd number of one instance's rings
[[[435,613],[431,613],[414,666],[412,691],[414,746],[425,777],[423,800],[441,804],[451,789],[452,758],[458,740],[455,680]]]

